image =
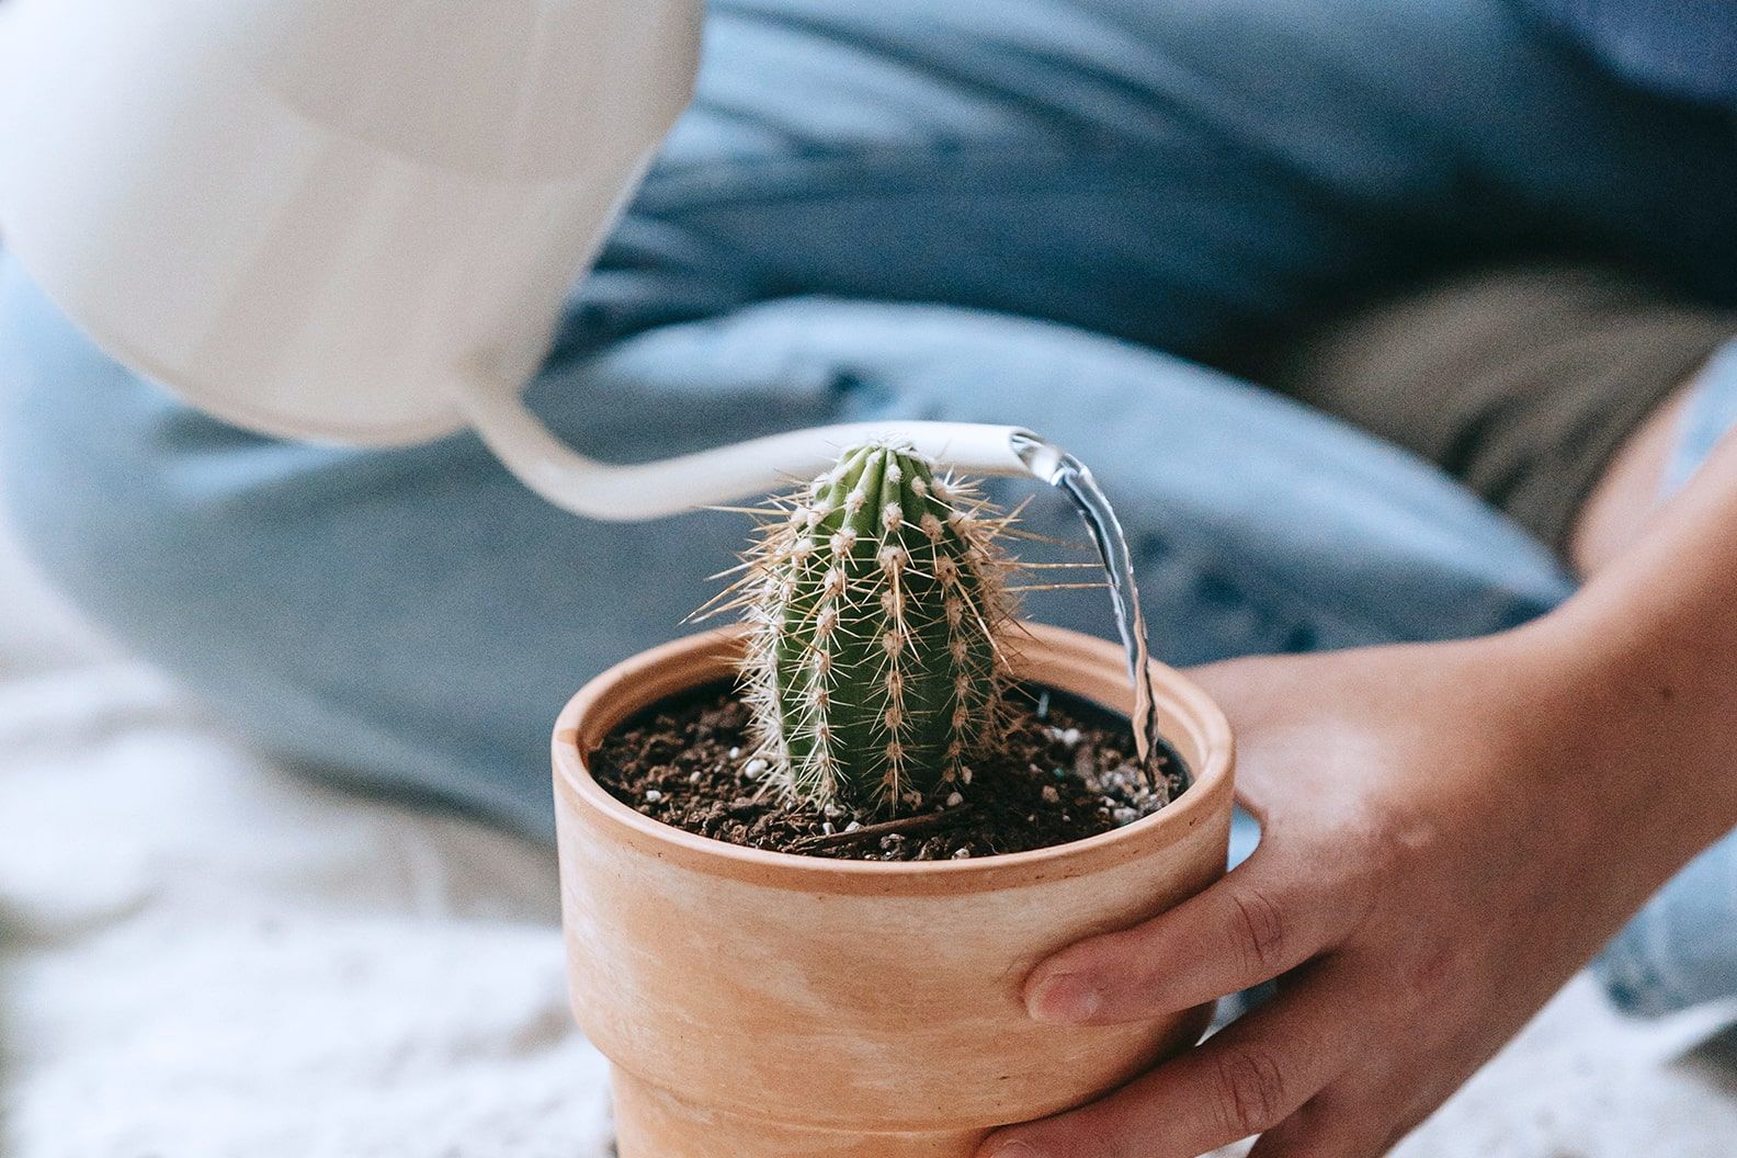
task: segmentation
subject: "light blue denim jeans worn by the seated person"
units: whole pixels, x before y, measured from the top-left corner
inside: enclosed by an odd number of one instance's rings
[[[1734,219],[1723,118],[1501,0],[716,0],[700,99],[533,391],[618,460],[849,418],[1030,425],[1101,476],[1176,663],[1476,635],[1570,594],[1549,552],[1199,363],[1546,240],[1728,300]],[[90,615],[285,757],[535,833],[556,708],[679,634],[743,542],[728,514],[558,514],[472,438],[234,431],[14,266],[0,382],[14,517]],[[1077,535],[1047,497],[1030,521]],[[1032,611],[1110,630],[1094,594]],[[1732,865],[1624,936],[1624,1000],[1737,991]]]

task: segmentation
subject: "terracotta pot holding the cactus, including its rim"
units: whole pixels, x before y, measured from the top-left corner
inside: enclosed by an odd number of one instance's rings
[[[1020,674],[1127,712],[1120,649],[1034,627]],[[1073,844],[968,861],[829,861],[690,835],[611,799],[585,755],[629,715],[733,672],[738,634],[646,651],[554,733],[573,1014],[613,1063],[622,1158],[969,1158],[988,1128],[1077,1106],[1186,1049],[1209,1009],[1058,1028],[1020,986],[1225,872],[1232,738],[1155,667],[1195,783]]]

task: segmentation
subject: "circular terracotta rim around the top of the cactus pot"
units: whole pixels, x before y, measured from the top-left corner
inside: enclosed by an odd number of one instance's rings
[[[1126,665],[1120,646],[1110,641],[1086,635],[1082,632],[1049,627],[1044,623],[1023,623],[1028,642],[1014,658],[1014,670],[1039,667],[1047,656],[1073,656],[1075,667],[1113,665],[1120,672]],[[724,873],[731,877],[754,877],[764,884],[782,884],[785,887],[830,892],[959,892],[971,889],[997,889],[1013,884],[1028,884],[1034,878],[1075,877],[1086,872],[1100,872],[1110,865],[1133,856],[1146,856],[1181,840],[1192,828],[1205,823],[1221,806],[1221,799],[1232,792],[1232,767],[1235,764],[1235,741],[1225,714],[1195,682],[1176,668],[1152,661],[1159,708],[1169,715],[1192,724],[1195,743],[1205,753],[1190,767],[1192,783],[1171,804],[1152,816],[1143,816],[1133,825],[1103,832],[1082,840],[1054,844],[1025,852],[1001,852],[995,856],[978,856],[959,861],[856,861],[802,856],[799,852],[775,852],[768,849],[750,849],[728,840],[714,840],[698,833],[651,819],[643,813],[622,804],[610,795],[585,766],[587,752],[580,750],[582,724],[587,717],[598,719],[584,726],[594,736],[603,736],[624,719],[658,700],[679,694],[684,689],[719,679],[735,670],[731,658],[740,655],[745,630],[742,627],[723,627],[695,635],[686,635],[667,644],[617,663],[585,682],[578,693],[568,700],[556,719],[552,753],[554,753],[554,790],[558,813],[561,797],[584,811],[604,826],[611,839],[622,839],[653,854],[681,861],[702,872]],[[681,670],[679,677],[657,679],[658,672]],[[695,675],[695,672],[698,672]],[[1032,674],[1035,682],[1046,682]],[[1063,684],[1051,682],[1060,691],[1077,693]],[[1098,700],[1096,696],[1086,696]],[[1100,700],[1101,703],[1101,700]],[[1103,705],[1126,714],[1126,707]],[[1171,738],[1176,743],[1174,738]],[[1178,745],[1181,747],[1181,745]],[[1047,870],[1047,872],[1046,872]]]

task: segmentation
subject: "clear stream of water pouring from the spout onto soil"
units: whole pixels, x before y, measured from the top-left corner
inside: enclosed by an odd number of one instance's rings
[[[1110,602],[1115,606],[1115,630],[1122,637],[1122,648],[1127,649],[1127,675],[1134,682],[1134,753],[1146,780],[1155,785],[1159,774],[1153,757],[1164,753],[1167,745],[1159,734],[1153,710],[1146,616],[1139,609],[1139,587],[1134,582],[1134,557],[1127,549],[1127,535],[1122,533],[1115,509],[1084,462],[1037,436],[1014,436],[1013,450],[1034,477],[1049,483],[1073,502],[1103,559]]]

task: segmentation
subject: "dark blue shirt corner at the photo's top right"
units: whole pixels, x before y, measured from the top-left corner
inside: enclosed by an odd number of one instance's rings
[[[1615,73],[1737,109],[1737,0],[1527,0]]]

